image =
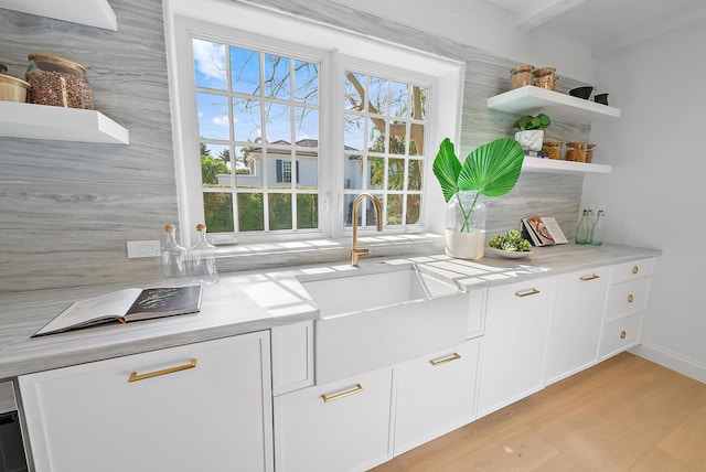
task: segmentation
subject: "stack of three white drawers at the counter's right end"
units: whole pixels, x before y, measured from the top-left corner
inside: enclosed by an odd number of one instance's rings
[[[642,319],[656,259],[642,259],[612,267],[600,341],[602,361],[640,342]]]

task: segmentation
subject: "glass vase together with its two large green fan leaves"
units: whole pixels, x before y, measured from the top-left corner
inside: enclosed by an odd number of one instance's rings
[[[461,164],[446,138],[434,160],[446,214],[446,254],[480,259],[485,248],[485,205],[479,199],[501,196],[517,183],[524,151],[514,139],[502,138],[475,148]]]

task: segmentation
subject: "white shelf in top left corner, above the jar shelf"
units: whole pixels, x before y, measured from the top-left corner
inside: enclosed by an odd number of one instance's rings
[[[118,30],[118,21],[107,0],[0,0],[0,8]]]

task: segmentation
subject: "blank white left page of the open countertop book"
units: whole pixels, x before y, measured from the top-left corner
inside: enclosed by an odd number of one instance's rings
[[[125,289],[100,297],[79,300],[62,311],[35,335],[62,331],[75,325],[89,324],[94,320],[121,318],[130,308],[141,289]]]

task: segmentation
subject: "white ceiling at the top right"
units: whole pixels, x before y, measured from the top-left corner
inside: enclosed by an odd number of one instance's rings
[[[571,41],[593,56],[706,18],[704,0],[486,1],[506,10],[516,28]]]

